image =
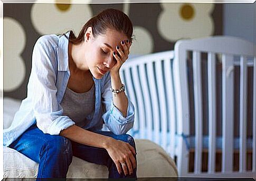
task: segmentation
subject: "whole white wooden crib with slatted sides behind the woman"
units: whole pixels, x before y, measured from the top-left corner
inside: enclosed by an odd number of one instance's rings
[[[206,67],[202,67],[203,61]],[[217,64],[220,72],[216,71]],[[240,67],[240,86],[234,83],[235,67]],[[217,76],[221,82],[217,82]],[[135,125],[129,134],[161,145],[176,158],[180,177],[255,178],[256,48],[252,43],[226,36],[181,40],[174,51],[130,58],[122,66],[121,78],[136,109]],[[249,95],[248,83],[252,85]],[[219,85],[221,97],[216,93]],[[234,98],[236,87],[239,102]],[[217,102],[221,104],[220,113]],[[239,107],[239,118],[234,116],[234,105]],[[234,119],[239,120],[239,126]],[[238,136],[234,135],[234,127],[239,128]],[[252,134],[248,135],[247,130]],[[235,154],[239,155],[239,164],[233,161]]]

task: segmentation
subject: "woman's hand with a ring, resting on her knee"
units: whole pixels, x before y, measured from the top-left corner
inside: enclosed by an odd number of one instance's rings
[[[118,173],[124,171],[125,176],[131,175],[136,168],[136,152],[134,147],[129,143],[122,142],[121,140],[111,139],[107,148],[109,156],[117,166]]]

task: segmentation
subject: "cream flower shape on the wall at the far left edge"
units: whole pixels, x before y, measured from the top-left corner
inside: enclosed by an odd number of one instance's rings
[[[26,44],[22,25],[11,17],[4,17],[4,91],[18,88],[24,81],[26,68],[21,57]],[[10,51],[12,50],[12,51]]]

